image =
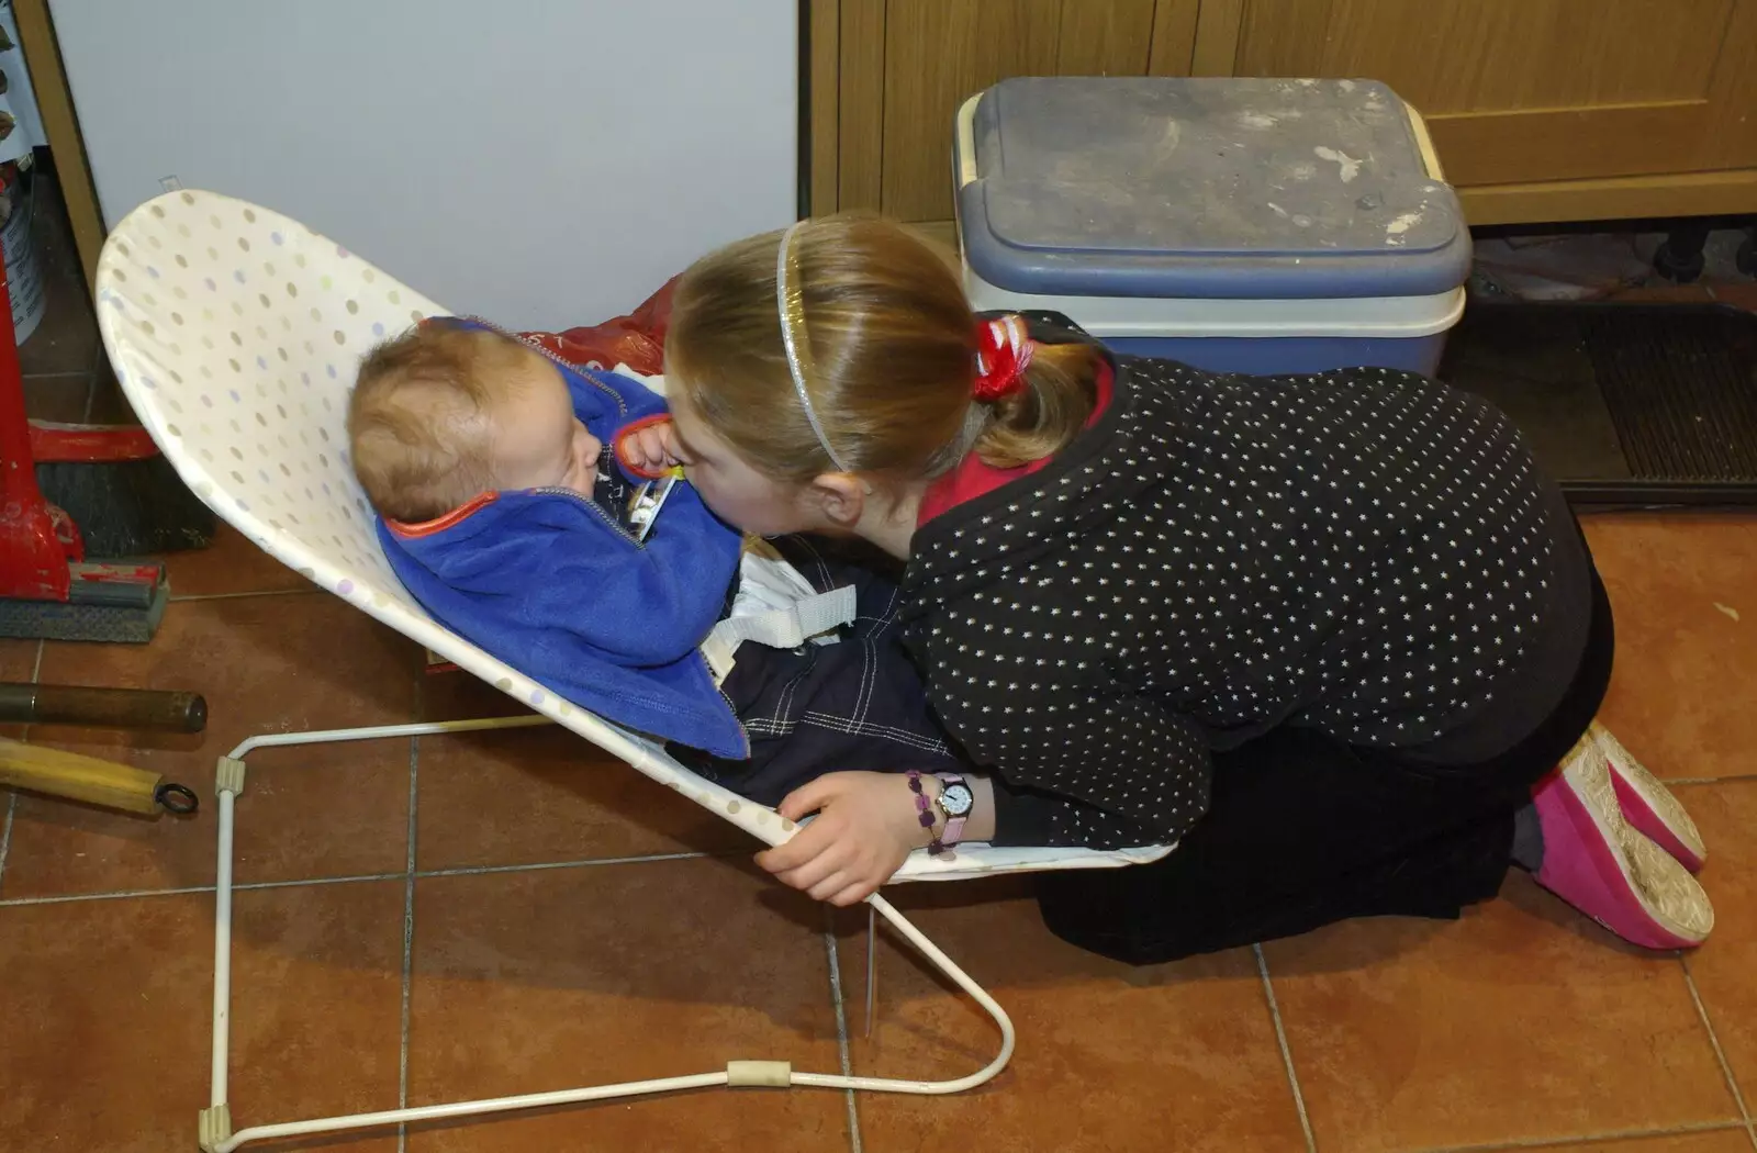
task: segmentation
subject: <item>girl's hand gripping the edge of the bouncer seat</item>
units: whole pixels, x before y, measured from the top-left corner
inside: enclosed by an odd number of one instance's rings
[[[928,796],[938,780],[922,779]],[[780,816],[817,819],[792,840],[757,854],[757,865],[813,900],[854,905],[903,865],[910,849],[931,840],[903,773],[829,773],[780,803]]]

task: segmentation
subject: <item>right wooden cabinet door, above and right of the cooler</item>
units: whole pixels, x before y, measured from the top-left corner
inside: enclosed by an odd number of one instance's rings
[[[1235,76],[1385,81],[1464,188],[1757,165],[1757,0],[1223,2]]]

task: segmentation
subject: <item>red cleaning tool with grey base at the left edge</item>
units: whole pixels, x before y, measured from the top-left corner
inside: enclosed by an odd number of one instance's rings
[[[25,374],[12,329],[12,297],[0,260],[0,636],[47,640],[148,642],[165,613],[165,568],[102,562],[86,557],[79,526],[49,504],[37,487],[33,438],[97,436],[90,453],[135,452],[104,431],[81,434],[32,429],[25,411]],[[151,438],[132,429],[121,434]],[[61,445],[61,448],[67,448]],[[134,459],[134,457],[116,457]]]

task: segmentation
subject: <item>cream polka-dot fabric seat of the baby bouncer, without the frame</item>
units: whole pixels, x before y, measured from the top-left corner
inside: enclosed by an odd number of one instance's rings
[[[348,464],[360,355],[448,309],[295,220],[211,192],[141,206],[98,262],[98,327],[116,378],[183,480],[251,541],[387,626],[754,837],[791,824],[705,780],[640,735],[578,708],[446,631],[392,575]],[[1091,868],[1167,849],[914,854],[896,881]]]

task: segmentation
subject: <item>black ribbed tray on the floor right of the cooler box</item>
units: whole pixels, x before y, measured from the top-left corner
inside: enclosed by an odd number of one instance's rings
[[[1757,503],[1757,315],[1485,304],[1441,374],[1506,410],[1578,503]]]

